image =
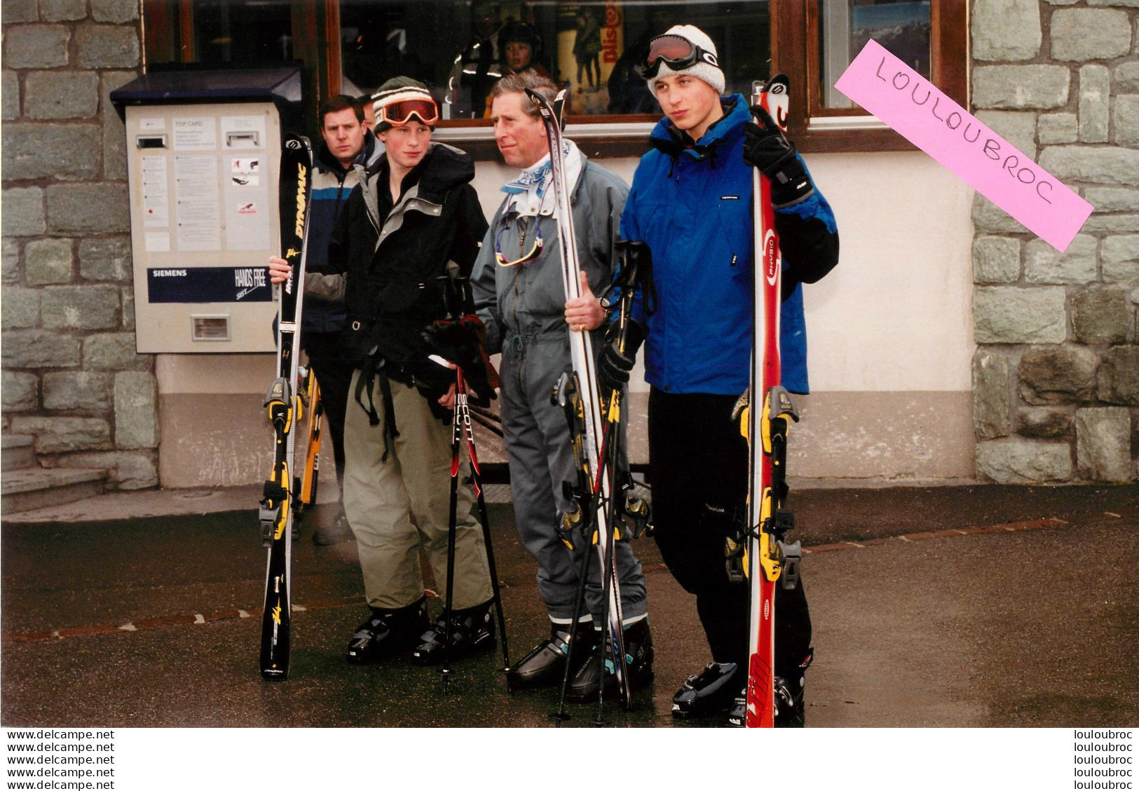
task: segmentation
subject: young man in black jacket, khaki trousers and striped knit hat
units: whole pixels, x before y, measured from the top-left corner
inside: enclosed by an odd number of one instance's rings
[[[446,316],[446,276],[470,274],[486,219],[470,186],[474,160],[432,142],[439,105],[421,83],[388,80],[376,113],[386,152],[336,221],[328,270],[306,274],[304,291],[345,305],[342,346],[355,368],[355,403],[344,425],[344,507],[371,612],[352,635],[347,660],[413,649],[412,661],[429,664],[443,660],[446,623],[441,617],[428,626],[419,552],[442,586],[454,372],[429,359],[424,331]],[[271,260],[273,283],[288,271],[284,259]],[[469,463],[462,464],[465,479]],[[469,486],[460,486],[451,659],[494,645],[490,571],[473,504]]]

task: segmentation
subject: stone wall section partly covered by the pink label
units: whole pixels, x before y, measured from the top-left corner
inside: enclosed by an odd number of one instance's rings
[[[1063,254],[977,196],[977,476],[1139,478],[1139,0],[974,0],[977,116],[1096,211]]]

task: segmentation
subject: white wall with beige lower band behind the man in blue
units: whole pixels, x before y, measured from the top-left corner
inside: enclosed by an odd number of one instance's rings
[[[796,399],[792,475],[972,479],[973,190],[919,152],[805,158],[835,210],[841,255],[804,290],[812,394]],[[631,182],[637,162],[603,164]],[[478,164],[487,217],[513,177]],[[640,361],[631,390],[630,458],[645,462]]]

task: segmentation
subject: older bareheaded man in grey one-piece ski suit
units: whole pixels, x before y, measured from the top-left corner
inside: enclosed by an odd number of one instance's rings
[[[579,540],[571,552],[557,536],[560,513],[570,508],[563,483],[574,480],[574,464],[565,413],[550,403],[550,391],[572,369],[566,325],[573,332],[593,331],[605,318],[591,288],[608,285],[617,267],[614,244],[628,188],[566,141],[582,271],[582,296],[566,302],[549,147],[541,116],[524,92],[527,88],[550,100],[557,92],[534,72],[505,76],[491,90],[494,141],[506,163],[521,172],[502,187],[506,197],[483,240],[472,288],[486,325],[487,351],[502,352],[502,432],[515,521],[523,546],[538,561],[538,590],[550,619],[549,639],[510,668],[511,684],[524,688],[560,683],[572,642],[576,667],[567,699],[587,702],[597,699],[600,684],[609,691],[616,683],[609,668],[603,671],[604,601],[597,562],[590,565],[585,589],[589,614],[573,622],[581,553],[596,549]],[[600,341],[595,333],[595,345]],[[645,574],[628,535],[616,543],[614,556],[631,658],[626,672],[637,687],[653,676]]]

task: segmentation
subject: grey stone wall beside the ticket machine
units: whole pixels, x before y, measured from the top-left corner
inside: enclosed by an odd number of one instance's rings
[[[3,430],[44,466],[158,483],[154,357],[134,352],[123,123],[138,0],[3,0]]]

